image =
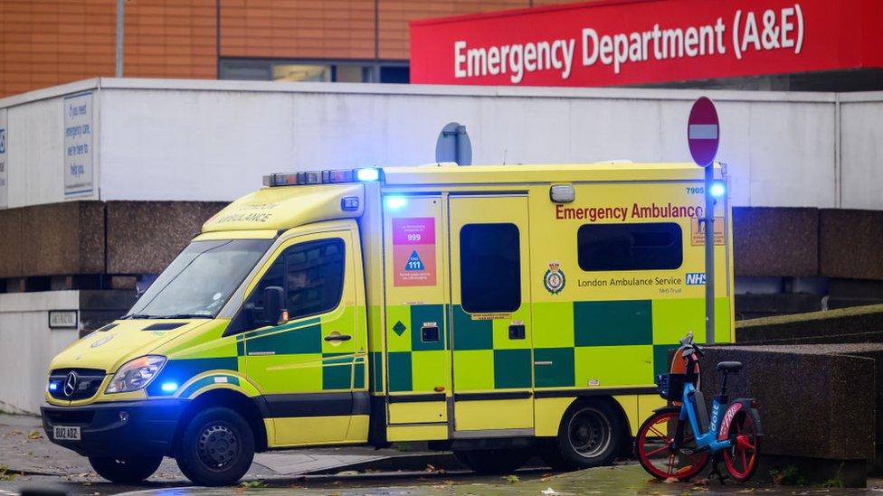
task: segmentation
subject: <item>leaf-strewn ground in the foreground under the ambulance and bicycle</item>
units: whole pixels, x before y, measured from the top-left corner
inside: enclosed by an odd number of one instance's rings
[[[203,488],[186,481],[174,460],[166,458],[157,473],[139,486],[113,484],[91,470],[88,460],[53,445],[43,435],[40,419],[0,415],[0,496],[68,494],[100,496],[169,496],[199,493],[236,496],[298,494],[651,494],[684,495],[764,492],[769,494],[883,493],[883,480],[870,480],[865,489],[831,490],[820,487],[783,487],[748,482],[727,483],[699,479],[666,484],[651,479],[635,463],[599,467],[574,473],[550,473],[545,468],[515,474],[479,476],[465,471],[451,454],[375,450],[367,447],[315,448],[257,454],[252,469],[238,487]]]

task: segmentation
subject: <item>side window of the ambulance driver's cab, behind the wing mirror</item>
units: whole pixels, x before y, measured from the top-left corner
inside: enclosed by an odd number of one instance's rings
[[[344,285],[343,239],[309,241],[287,248],[252,293],[255,306],[263,307],[263,290],[271,285],[285,290],[284,308],[290,319],[333,310]]]

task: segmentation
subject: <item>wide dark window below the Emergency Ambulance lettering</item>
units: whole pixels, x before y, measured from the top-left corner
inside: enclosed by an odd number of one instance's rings
[[[683,235],[674,222],[586,224],[576,240],[586,271],[664,270],[684,261]]]

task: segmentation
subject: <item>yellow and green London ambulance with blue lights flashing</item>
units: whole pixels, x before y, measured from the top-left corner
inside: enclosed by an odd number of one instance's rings
[[[223,485],[256,452],[415,441],[479,473],[611,463],[661,405],[666,351],[705,334],[704,205],[694,164],[271,174],[52,360],[43,426],[113,482],[164,456]]]

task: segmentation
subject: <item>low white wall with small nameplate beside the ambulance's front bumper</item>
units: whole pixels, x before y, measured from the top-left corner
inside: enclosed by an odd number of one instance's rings
[[[0,380],[0,412],[40,414],[49,362],[78,339],[76,329],[49,329],[50,310],[80,306],[78,291],[0,295],[0,363],[14,370]]]

